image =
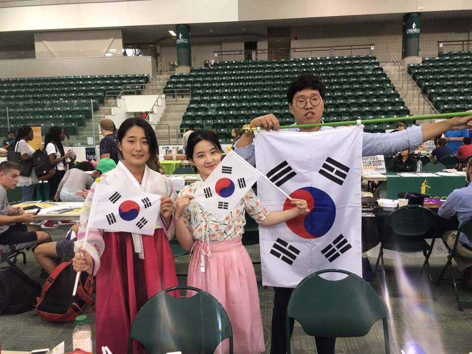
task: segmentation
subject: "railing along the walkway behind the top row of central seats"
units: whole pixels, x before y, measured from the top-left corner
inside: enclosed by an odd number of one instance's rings
[[[339,46],[321,46],[321,47],[300,47],[300,48],[274,48],[274,49],[254,49],[254,50],[238,50],[238,51],[213,51],[213,55],[216,61],[219,61],[220,57],[234,57],[242,56],[239,60],[244,60],[246,56],[251,55],[252,59],[258,59],[258,54],[267,54],[271,53],[272,58],[276,56],[283,56],[286,58],[289,56],[291,59],[295,58],[295,53],[304,53],[310,52],[310,57],[313,57],[313,52],[330,52],[329,56],[333,56],[335,51],[349,50],[351,56],[353,55],[353,50],[369,49],[370,53],[374,53],[375,44],[357,44],[357,45],[339,45]],[[281,52],[281,53],[280,53]],[[254,55],[253,55],[254,54]],[[224,60],[224,59],[222,59]]]

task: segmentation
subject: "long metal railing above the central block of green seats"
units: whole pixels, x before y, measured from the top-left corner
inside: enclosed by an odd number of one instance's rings
[[[374,54],[375,44],[358,44],[345,46],[323,46],[305,48],[278,48],[239,51],[214,51],[215,61],[228,60],[266,60],[297,59],[313,57],[334,57]]]

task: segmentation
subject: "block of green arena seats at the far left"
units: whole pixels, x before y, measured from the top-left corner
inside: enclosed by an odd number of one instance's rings
[[[113,96],[122,89],[134,89],[140,94],[148,81],[146,74],[0,79],[0,119],[6,122],[8,110],[13,130],[28,124],[41,125],[44,132],[59,125],[67,134],[76,135],[91,118],[91,110],[97,111],[104,103],[106,93]],[[7,131],[7,124],[0,124],[1,134]]]

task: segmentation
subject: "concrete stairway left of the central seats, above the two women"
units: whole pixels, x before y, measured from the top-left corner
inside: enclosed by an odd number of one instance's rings
[[[155,126],[155,130],[157,142],[160,146],[169,144],[169,136],[170,144],[180,145],[182,143],[181,136],[177,136],[177,129],[180,127],[182,116],[190,102],[190,96],[185,95],[183,98],[181,95],[177,96],[178,97],[174,97],[173,95],[166,96],[166,109],[164,110],[160,121],[154,122],[154,124],[158,124]],[[169,130],[167,125],[164,124],[169,125]]]

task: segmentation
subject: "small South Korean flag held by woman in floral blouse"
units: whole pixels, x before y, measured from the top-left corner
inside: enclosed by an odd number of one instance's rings
[[[260,175],[229,151],[218,167],[195,193],[195,200],[215,219],[223,220],[244,198]]]

